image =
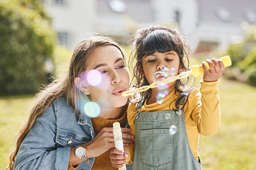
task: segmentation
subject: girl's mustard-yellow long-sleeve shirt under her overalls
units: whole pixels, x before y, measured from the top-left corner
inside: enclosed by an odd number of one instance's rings
[[[220,98],[218,96],[218,82],[204,82],[200,81],[200,90],[194,89],[188,97],[188,102],[184,106],[185,124],[188,134],[188,141],[193,155],[196,159],[199,157],[198,146],[200,134],[204,136],[212,136],[220,129]],[[145,102],[141,111],[164,111],[176,109],[175,102],[179,94],[175,94],[173,90],[168,96],[164,98],[163,104]],[[170,104],[172,103],[172,104]],[[127,110],[127,120],[131,127],[131,134],[135,135],[134,119],[135,119],[135,106],[130,104]],[[181,108],[182,106],[180,106]],[[135,136],[136,138],[136,136]],[[135,139],[133,139],[135,144]],[[134,156],[135,145],[126,146],[129,151],[127,164],[132,163]]]

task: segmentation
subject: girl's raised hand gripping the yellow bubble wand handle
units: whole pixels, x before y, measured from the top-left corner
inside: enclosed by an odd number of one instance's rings
[[[205,65],[205,61],[202,63],[202,66],[204,68],[204,81],[217,81],[220,76],[224,73],[226,67],[223,64],[223,61],[221,59],[207,59],[206,62],[209,64],[210,69],[207,68]],[[214,66],[213,66],[213,64]]]

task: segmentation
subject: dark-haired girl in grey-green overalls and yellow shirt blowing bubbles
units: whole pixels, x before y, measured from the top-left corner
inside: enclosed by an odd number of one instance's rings
[[[189,70],[191,50],[179,31],[163,26],[150,26],[137,32],[135,39],[135,87],[156,81],[155,73],[164,67],[176,70],[174,76]],[[198,153],[200,134],[212,136],[220,129],[218,79],[225,71],[221,60],[207,59],[200,90],[188,87],[191,78],[166,84],[162,104],[157,103],[158,88],[141,92],[140,101],[131,104],[127,118],[135,135],[134,145],[127,146],[124,156],[111,150],[111,163],[132,169],[202,169]],[[213,66],[214,64],[214,66]],[[163,75],[162,75],[163,76]],[[194,78],[195,80],[195,78]],[[177,132],[170,134],[175,125]]]

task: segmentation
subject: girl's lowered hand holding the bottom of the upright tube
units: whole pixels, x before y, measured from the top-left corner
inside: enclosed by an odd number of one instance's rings
[[[128,157],[129,152],[126,148],[124,148],[124,155],[122,153],[122,151],[117,150],[116,148],[110,151],[109,158],[113,167],[118,168],[125,166],[125,162],[127,162],[126,158]]]

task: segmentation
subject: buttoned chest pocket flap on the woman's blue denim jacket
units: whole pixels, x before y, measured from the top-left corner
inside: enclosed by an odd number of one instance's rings
[[[56,143],[60,144],[61,146],[78,146],[90,141],[91,138],[86,138],[77,135],[74,132],[64,131],[64,130],[57,130],[56,134]],[[68,141],[72,141],[72,145],[68,145]]]

